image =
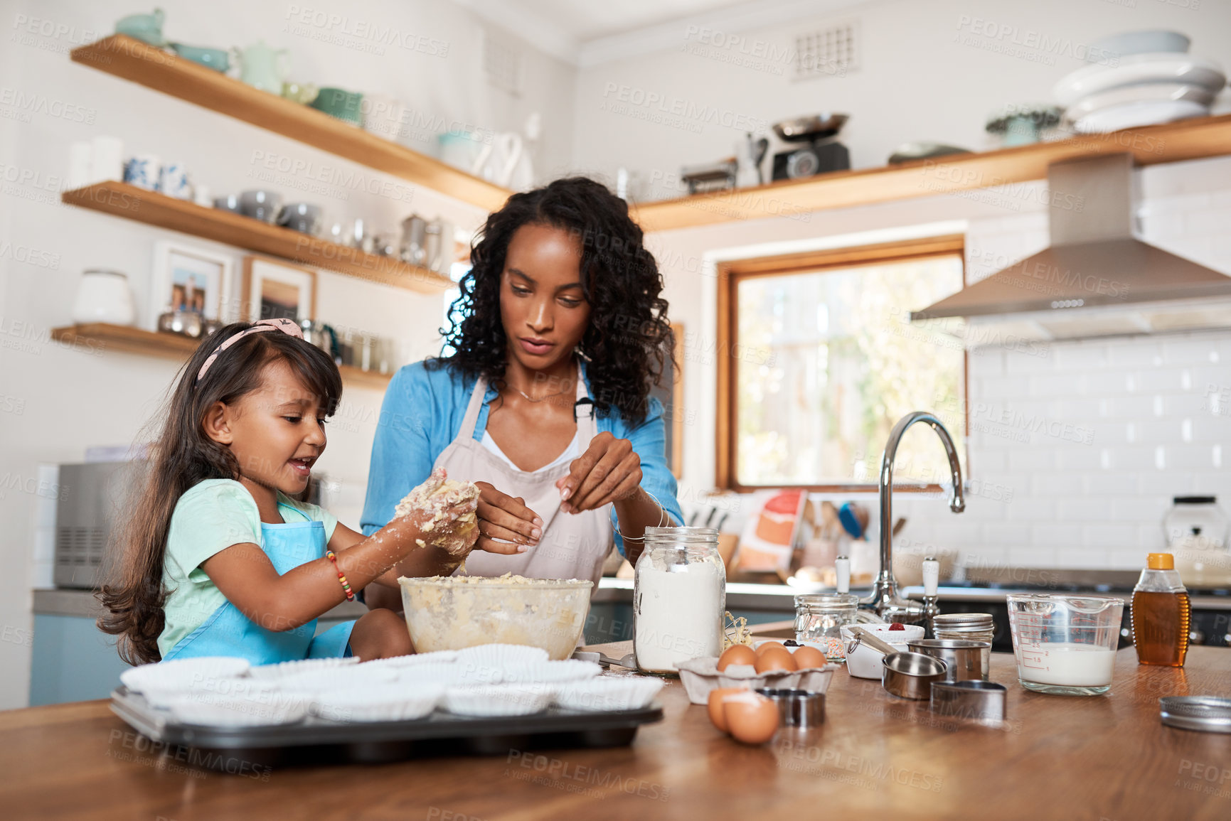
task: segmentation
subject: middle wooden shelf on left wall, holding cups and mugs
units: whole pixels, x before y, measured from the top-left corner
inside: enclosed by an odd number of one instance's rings
[[[85,188],[65,191],[60,199],[70,206],[101,210],[112,217],[170,228],[407,290],[442,293],[453,284],[448,277],[394,257],[364,254],[289,228],[270,225],[229,210],[206,208],[188,199],[176,199],[124,182],[97,182]]]

